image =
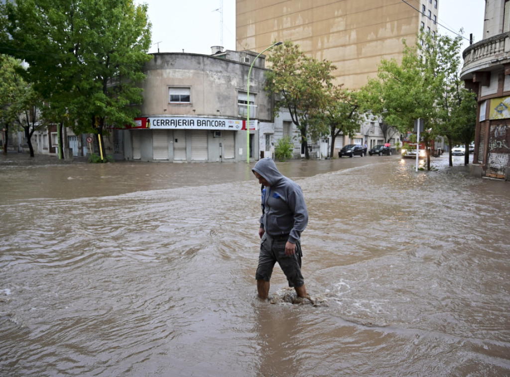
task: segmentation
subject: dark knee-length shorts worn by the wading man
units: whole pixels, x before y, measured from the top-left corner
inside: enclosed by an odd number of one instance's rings
[[[255,279],[269,281],[274,263],[278,262],[289,282],[289,287],[300,287],[304,284],[301,275],[301,244],[297,241],[296,252],[285,255],[285,244],[289,237],[272,237],[265,233],[260,240],[259,266]]]

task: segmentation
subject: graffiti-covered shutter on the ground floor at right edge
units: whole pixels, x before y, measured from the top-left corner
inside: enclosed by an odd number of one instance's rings
[[[510,165],[510,126],[507,120],[491,122],[487,153],[487,177],[505,178]]]

